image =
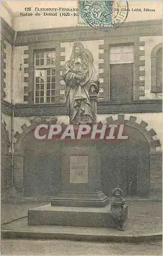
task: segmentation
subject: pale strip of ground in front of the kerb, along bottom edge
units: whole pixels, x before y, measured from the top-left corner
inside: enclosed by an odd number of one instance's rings
[[[130,244],[67,240],[2,240],[2,255],[162,255],[161,241]]]

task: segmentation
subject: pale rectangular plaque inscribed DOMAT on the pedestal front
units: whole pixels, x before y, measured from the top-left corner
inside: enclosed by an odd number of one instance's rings
[[[70,183],[88,183],[88,156],[70,156]]]

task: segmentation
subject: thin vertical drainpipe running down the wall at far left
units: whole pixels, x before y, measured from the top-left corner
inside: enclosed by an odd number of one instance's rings
[[[12,55],[11,55],[11,104],[12,104],[12,119],[11,119],[11,193],[10,196],[13,197],[13,185],[14,185],[14,97],[13,97],[13,88],[14,88],[14,51],[15,51],[15,41],[16,41],[17,31],[14,35],[14,44],[12,46]]]

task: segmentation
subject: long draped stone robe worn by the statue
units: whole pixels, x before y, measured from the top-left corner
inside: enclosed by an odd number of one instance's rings
[[[84,74],[84,79],[79,81],[75,74]],[[65,64],[63,79],[66,83],[65,96],[69,110],[70,124],[93,123],[92,106],[89,92],[91,84],[94,84],[95,92],[99,91],[99,78],[91,60],[88,67],[82,59],[74,61],[74,65],[68,60]]]

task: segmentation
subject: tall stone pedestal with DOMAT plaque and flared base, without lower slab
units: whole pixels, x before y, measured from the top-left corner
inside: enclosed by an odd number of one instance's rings
[[[87,146],[86,146],[87,143]],[[101,189],[100,157],[86,141],[62,148],[62,191],[52,206],[103,207],[108,197]]]

